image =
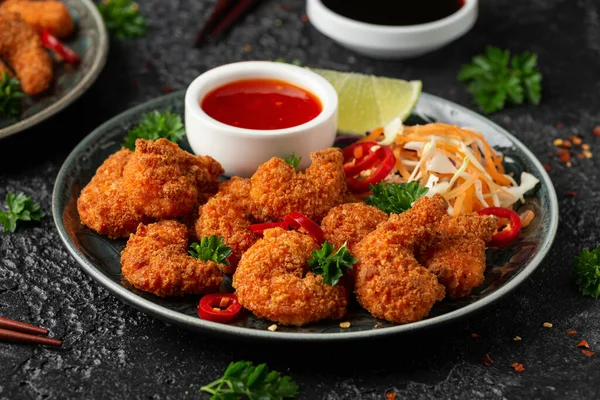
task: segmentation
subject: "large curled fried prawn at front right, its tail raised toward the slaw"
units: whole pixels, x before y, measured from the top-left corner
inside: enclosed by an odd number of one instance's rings
[[[444,298],[444,287],[417,262],[415,251],[434,238],[447,207],[440,195],[422,197],[354,246],[359,260],[354,266],[355,293],[374,317],[396,323],[419,321]]]

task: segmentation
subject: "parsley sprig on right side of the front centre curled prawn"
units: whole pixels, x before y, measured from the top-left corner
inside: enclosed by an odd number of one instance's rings
[[[317,275],[323,275],[323,283],[335,286],[344,271],[352,269],[358,259],[352,257],[346,247],[346,243],[333,253],[333,245],[329,242],[323,243],[319,250],[313,251],[312,257],[308,260],[308,266],[312,267]]]

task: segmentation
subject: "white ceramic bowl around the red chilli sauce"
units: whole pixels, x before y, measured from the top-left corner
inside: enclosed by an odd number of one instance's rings
[[[243,79],[278,79],[308,90],[323,109],[314,119],[285,129],[257,130],[227,125],[208,116],[200,107],[212,90]],[[185,129],[196,154],[219,161],[228,176],[251,176],[271,157],[302,157],[300,168],[310,164],[310,153],[331,147],[337,131],[338,97],[320,75],[291,64],[247,61],[211,69],[196,78],[185,94]],[[231,110],[235,112],[235,110]]]

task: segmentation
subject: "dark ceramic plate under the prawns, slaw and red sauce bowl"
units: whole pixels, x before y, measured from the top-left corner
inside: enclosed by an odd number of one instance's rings
[[[423,94],[411,117],[413,123],[425,119],[475,128],[485,135],[490,144],[501,148],[507,158],[514,160],[513,167],[526,169],[540,180],[535,193],[521,206],[534,209],[535,219],[515,243],[502,250],[488,250],[485,283],[471,296],[461,300],[444,300],[434,306],[429,318],[407,325],[376,320],[357,304],[351,304],[345,319],[352,323],[350,329],[341,329],[339,321],[323,321],[301,328],[280,326],[276,332],[270,332],[267,327],[271,322],[255,318],[249,312],[230,325],[204,321],[196,315],[197,296],[163,299],[128,285],[123,280],[120,265],[120,251],[125,241],[109,240],[82,226],[76,207],[81,188],[89,182],[96,168],[120,148],[128,128],[135,125],[143,113],[151,110],[171,109],[183,113],[183,100],[183,92],[164,96],[100,126],[66,159],[56,179],[52,198],[54,221],[60,237],[82,268],[126,303],[169,323],[221,336],[270,340],[331,341],[398,335],[465,317],[506,296],[531,275],[554,240],[558,224],[556,193],[535,156],[491,121],[439,97]],[[189,150],[187,142],[181,146]]]

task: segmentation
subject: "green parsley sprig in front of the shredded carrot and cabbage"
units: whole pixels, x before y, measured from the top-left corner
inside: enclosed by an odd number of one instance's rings
[[[388,214],[400,214],[409,210],[418,198],[427,194],[428,188],[418,182],[384,183],[369,186],[373,194],[365,199],[367,204],[375,206]]]

